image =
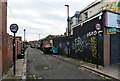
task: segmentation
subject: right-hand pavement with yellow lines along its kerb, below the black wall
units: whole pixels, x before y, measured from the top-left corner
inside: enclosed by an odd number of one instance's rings
[[[76,64],[76,65],[82,66],[84,68],[87,68],[89,70],[95,71],[102,75],[114,78],[116,80],[120,80],[120,64],[104,66],[104,67],[99,65],[99,68],[97,69],[95,64],[87,63],[85,61],[77,60],[74,58],[66,58],[63,55],[53,55],[53,56],[56,58],[59,58],[61,60],[64,60],[66,62]]]

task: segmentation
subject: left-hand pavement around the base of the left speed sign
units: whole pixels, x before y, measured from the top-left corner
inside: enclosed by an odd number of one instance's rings
[[[27,56],[27,50],[25,51],[25,58]],[[3,75],[2,81],[22,81],[26,79],[26,59],[16,60],[16,75],[13,74],[13,66],[9,68],[7,73]]]

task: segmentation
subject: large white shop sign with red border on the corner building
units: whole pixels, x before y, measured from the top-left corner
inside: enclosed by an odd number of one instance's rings
[[[120,15],[112,12],[107,12],[106,27],[120,28]]]

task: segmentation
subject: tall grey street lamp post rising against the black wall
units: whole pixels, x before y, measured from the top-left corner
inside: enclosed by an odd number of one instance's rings
[[[70,51],[69,51],[69,36],[70,36],[70,19],[69,19],[69,5],[65,5],[67,7],[67,24],[68,24],[68,38],[67,38],[67,48],[68,48],[68,58],[69,58],[69,55],[70,55]]]

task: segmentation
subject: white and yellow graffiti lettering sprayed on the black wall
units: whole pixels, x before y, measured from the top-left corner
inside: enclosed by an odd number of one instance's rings
[[[99,31],[99,38],[101,38],[103,31]],[[77,37],[74,42],[72,43],[72,49],[75,50],[75,53],[77,52],[83,52],[84,50],[91,50],[92,56],[96,57],[97,53],[97,31],[88,32],[87,35],[83,35],[82,37]],[[101,39],[99,39],[102,41]]]

